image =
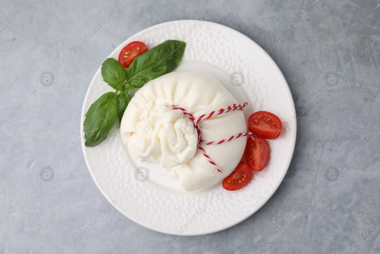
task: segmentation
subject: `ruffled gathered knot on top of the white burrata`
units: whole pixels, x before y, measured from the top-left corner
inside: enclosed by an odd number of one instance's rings
[[[136,125],[136,133],[127,141],[137,157],[160,155],[161,166],[173,168],[186,163],[196,151],[198,133],[182,110],[160,106]],[[137,154],[136,154],[137,152]],[[157,157],[157,156],[156,156]]]

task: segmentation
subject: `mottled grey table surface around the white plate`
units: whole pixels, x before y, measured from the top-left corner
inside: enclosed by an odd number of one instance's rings
[[[0,253],[380,252],[380,1],[29,1],[0,1],[6,26],[0,35],[0,118],[6,121],[0,131],[0,215],[6,216]],[[111,24],[75,54],[73,47],[112,10],[118,14]],[[302,112],[283,182],[260,210],[221,232],[171,243],[170,235],[113,209],[76,243],[88,218],[109,204],[77,143],[95,71],[112,48],[140,30],[199,19],[207,10],[213,13],[208,21],[266,50],[307,11],[268,52]],[[46,71],[54,74],[53,86],[40,83]],[[52,182],[41,181],[46,166],[54,169]],[[278,229],[302,202],[301,214]]]

